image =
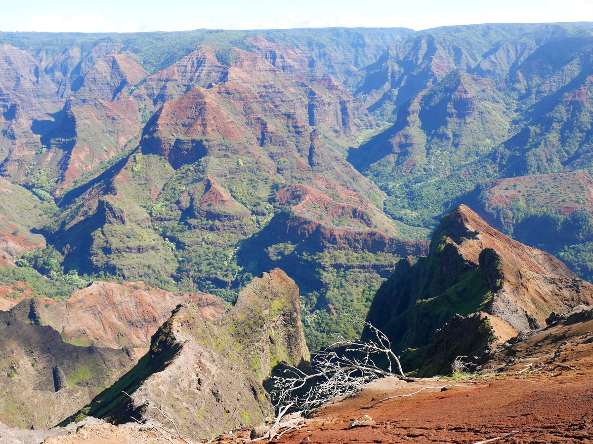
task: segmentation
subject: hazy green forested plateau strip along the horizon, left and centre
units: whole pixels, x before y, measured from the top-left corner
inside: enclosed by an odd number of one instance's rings
[[[0,33],[0,43],[30,51],[33,56],[44,52],[49,57],[58,56],[72,47],[79,47],[83,56],[100,43],[115,44],[123,51],[137,54],[139,62],[150,72],[157,72],[171,65],[181,57],[192,52],[200,44],[224,49],[237,47],[243,50],[251,48],[248,38],[260,35],[270,41],[303,46],[303,49],[314,52],[322,63],[329,62],[330,54],[340,54],[356,67],[364,67],[384,51],[388,44],[393,43],[403,34],[409,33],[406,28],[377,28],[364,32],[347,28],[320,28],[303,30],[195,30],[182,32],[151,32],[151,33]],[[368,41],[382,43],[366,50],[364,44],[358,47],[355,42]],[[224,57],[221,57],[224,60]],[[221,60],[222,61],[222,60]],[[224,60],[228,62],[228,60]]]

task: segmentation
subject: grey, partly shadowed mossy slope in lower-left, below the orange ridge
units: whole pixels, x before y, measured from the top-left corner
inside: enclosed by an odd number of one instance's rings
[[[0,313],[0,417],[9,426],[52,427],[137,361],[132,349],[65,343],[34,312],[21,320],[18,311]]]

